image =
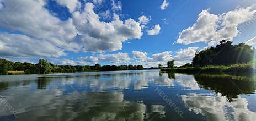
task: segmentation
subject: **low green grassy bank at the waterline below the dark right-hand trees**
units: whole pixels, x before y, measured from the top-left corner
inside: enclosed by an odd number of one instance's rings
[[[247,64],[233,64],[220,66],[206,66],[206,67],[186,67],[186,68],[162,68],[161,71],[177,72],[177,73],[253,73],[252,63]]]

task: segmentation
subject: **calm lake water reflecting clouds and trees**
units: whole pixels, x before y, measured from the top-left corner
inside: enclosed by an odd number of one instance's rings
[[[255,120],[252,75],[159,70],[0,76],[0,120]]]

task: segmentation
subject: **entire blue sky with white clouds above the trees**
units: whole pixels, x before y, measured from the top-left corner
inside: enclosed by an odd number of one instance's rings
[[[224,38],[256,43],[256,1],[0,2],[0,57],[12,61],[156,67]]]

